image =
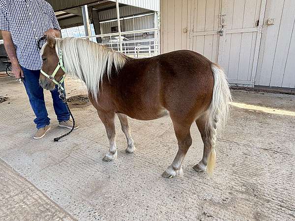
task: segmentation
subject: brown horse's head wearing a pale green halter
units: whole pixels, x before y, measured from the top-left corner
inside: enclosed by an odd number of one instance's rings
[[[44,89],[53,90],[65,74],[62,64],[60,66],[60,57],[56,52],[56,39],[53,36],[47,36],[47,42],[43,46],[41,53],[43,64],[39,83]]]

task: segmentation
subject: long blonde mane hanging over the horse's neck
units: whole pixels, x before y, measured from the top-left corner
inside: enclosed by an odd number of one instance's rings
[[[63,52],[63,63],[67,74],[83,80],[93,95],[99,93],[99,85],[102,84],[105,74],[110,79],[113,64],[118,71],[127,59],[122,53],[75,37],[56,38],[57,55],[59,48]]]

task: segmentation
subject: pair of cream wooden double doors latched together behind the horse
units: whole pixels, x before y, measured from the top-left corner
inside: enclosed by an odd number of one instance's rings
[[[266,0],[192,0],[189,44],[223,67],[234,85],[254,86]]]

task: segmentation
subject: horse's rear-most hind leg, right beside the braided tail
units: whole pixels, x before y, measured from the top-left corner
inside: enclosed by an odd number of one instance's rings
[[[210,126],[206,128],[207,120],[208,120],[207,113],[205,113],[204,115],[202,115],[196,120],[196,124],[198,126],[198,129],[200,131],[200,134],[204,143],[203,158],[196,166],[193,167],[194,170],[198,172],[206,171],[209,154],[212,150],[213,145],[215,145],[215,139],[214,139],[215,137],[213,136],[213,134],[215,133],[215,129],[210,128]]]

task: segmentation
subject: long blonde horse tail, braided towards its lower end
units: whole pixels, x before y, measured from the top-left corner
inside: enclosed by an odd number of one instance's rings
[[[212,101],[208,109],[207,130],[210,133],[212,149],[207,160],[207,172],[210,176],[213,174],[216,162],[215,143],[217,129],[224,127],[229,115],[229,105],[232,101],[232,95],[227,82],[224,71],[217,65],[212,63],[211,69],[214,77],[214,87]]]

